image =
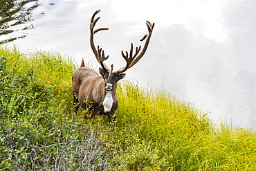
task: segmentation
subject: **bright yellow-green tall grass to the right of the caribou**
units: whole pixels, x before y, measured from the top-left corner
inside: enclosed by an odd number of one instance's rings
[[[254,170],[256,134],[225,123],[215,127],[205,114],[162,91],[142,91],[129,82],[119,89],[118,126],[130,125],[138,139],[157,149],[152,161],[170,170]],[[123,134],[123,133],[122,133]],[[143,154],[145,155],[145,154]]]

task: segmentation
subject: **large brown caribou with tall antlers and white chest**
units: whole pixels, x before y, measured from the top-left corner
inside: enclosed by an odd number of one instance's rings
[[[100,19],[100,17],[94,19],[98,12],[100,12],[100,10],[97,10],[91,17],[90,44],[96,60],[101,66],[99,69],[100,75],[92,69],[84,66],[84,60],[82,59],[80,68],[77,69],[72,76],[73,103],[75,106],[74,111],[76,112],[80,105],[82,108],[89,109],[89,111],[91,111],[91,118],[93,118],[95,114],[105,114],[109,116],[109,122],[112,122],[116,118],[115,113],[118,107],[118,96],[116,93],[118,85],[117,82],[122,78],[125,78],[124,72],[131,68],[131,66],[134,66],[134,64],[136,64],[145,54],[147,46],[149,45],[150,37],[152,36],[154,23],[151,24],[149,21],[146,23],[149,33],[140,39],[140,41],[146,39],[142,51],[140,52],[141,46],[139,46],[136,47],[136,51],[134,53],[134,46],[131,43],[129,53],[127,51],[125,53],[122,51],[122,57],[125,58],[127,63],[126,66],[123,66],[117,71],[113,71],[113,64],[111,65],[111,69],[104,64],[104,60],[107,60],[109,56],[105,57],[102,48],[100,48],[100,46],[96,48],[94,45],[93,37],[95,33],[100,30],[109,29],[98,28],[94,30],[95,24]]]

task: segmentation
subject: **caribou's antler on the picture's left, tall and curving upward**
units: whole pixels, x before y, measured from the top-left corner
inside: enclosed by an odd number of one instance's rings
[[[109,58],[109,55],[107,57],[105,57],[104,55],[104,50],[102,51],[102,48],[100,48],[100,46],[98,46],[98,48],[95,48],[95,44],[94,44],[94,40],[93,40],[93,35],[95,33],[97,33],[100,30],[109,30],[109,28],[98,28],[96,30],[93,30],[95,24],[97,23],[97,21],[100,19],[100,17],[98,17],[97,19],[94,19],[95,15],[97,15],[100,12],[100,10],[96,10],[93,14],[93,16],[91,17],[91,24],[90,24],[90,44],[91,44],[91,49],[93,50],[93,53],[97,59],[97,61],[100,63],[100,65],[102,66],[102,68],[105,71],[109,71],[109,68],[106,66],[106,64],[104,64],[104,60],[107,60]]]

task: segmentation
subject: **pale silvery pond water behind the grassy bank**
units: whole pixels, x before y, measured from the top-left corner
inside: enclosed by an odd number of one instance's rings
[[[215,123],[256,128],[256,1],[45,0],[1,1],[0,43],[20,51],[59,51],[99,66],[89,45],[95,35],[114,70],[125,65],[121,50],[140,45],[145,21],[155,22],[145,56],[127,78],[162,89],[203,109]]]

